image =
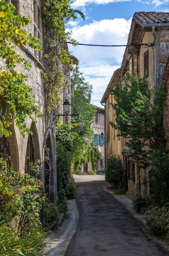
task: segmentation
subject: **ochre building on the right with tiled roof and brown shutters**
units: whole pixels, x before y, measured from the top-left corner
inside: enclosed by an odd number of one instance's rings
[[[169,13],[136,12],[132,19],[127,44],[130,46],[126,47],[122,66],[114,72],[110,86],[113,87],[117,77],[122,78],[127,71],[139,77],[143,77],[144,72],[147,71],[147,79],[153,88],[159,88],[163,79],[165,82],[168,81]],[[109,121],[114,121],[114,110],[109,106],[111,102],[116,102],[116,98],[111,95],[107,87],[101,100],[101,103],[106,105],[106,160],[111,155],[120,156],[127,194],[130,196],[136,192],[148,194],[148,185],[145,185],[147,170],[140,170],[134,159],[128,157],[130,150],[125,144],[125,139],[117,136],[121,131],[115,131],[109,125]],[[168,115],[164,115],[165,126],[167,126],[167,119]]]

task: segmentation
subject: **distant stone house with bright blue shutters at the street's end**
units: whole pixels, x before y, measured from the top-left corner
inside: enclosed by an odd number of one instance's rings
[[[94,122],[91,124],[91,129],[94,132],[94,145],[102,153],[102,159],[98,159],[97,173],[104,173],[105,171],[105,157],[104,157],[104,108],[97,107],[97,112],[94,116]]]

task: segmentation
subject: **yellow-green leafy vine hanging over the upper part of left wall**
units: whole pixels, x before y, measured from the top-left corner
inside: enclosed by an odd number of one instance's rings
[[[24,70],[31,67],[29,62],[15,52],[15,43],[18,46],[29,45],[35,50],[40,50],[41,46],[36,37],[27,34],[23,29],[29,25],[30,20],[26,16],[14,15],[14,11],[12,4],[0,1],[0,58],[4,62],[0,68],[0,97],[2,104],[9,104],[10,107],[9,113],[4,117],[5,126],[2,119],[0,120],[0,132],[6,137],[11,136],[8,128],[14,122],[24,136],[25,132],[31,133],[25,118],[28,116],[36,122],[34,115],[42,117],[35,104],[35,97],[31,95],[32,89],[25,84],[27,76],[14,70],[18,64],[21,64]]]

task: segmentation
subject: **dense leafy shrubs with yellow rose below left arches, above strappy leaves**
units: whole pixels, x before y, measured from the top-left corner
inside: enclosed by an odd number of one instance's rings
[[[40,191],[43,184],[28,174],[14,172],[12,168],[9,169],[9,180],[7,164],[2,158],[0,166],[0,221],[4,220],[11,226],[15,220],[18,230],[27,232],[32,225],[40,224],[38,216],[41,206],[34,199],[35,192]]]

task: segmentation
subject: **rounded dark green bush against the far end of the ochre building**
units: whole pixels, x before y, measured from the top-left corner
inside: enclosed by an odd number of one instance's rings
[[[105,179],[114,188],[119,188],[123,186],[123,166],[122,161],[119,157],[111,156],[107,160]]]

